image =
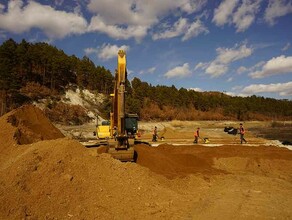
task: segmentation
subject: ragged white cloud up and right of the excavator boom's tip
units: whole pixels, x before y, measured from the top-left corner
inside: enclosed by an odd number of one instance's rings
[[[162,32],[153,34],[153,40],[182,36],[182,41],[186,41],[199,34],[209,33],[200,20],[189,23],[186,18],[180,18],[173,25],[162,24],[162,27],[164,28]]]

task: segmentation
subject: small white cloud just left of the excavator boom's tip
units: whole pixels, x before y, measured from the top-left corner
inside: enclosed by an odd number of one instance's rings
[[[117,57],[119,50],[124,50],[127,52],[130,50],[130,47],[126,45],[119,47],[117,45],[103,44],[99,48],[86,48],[84,51],[86,54],[96,54],[99,59],[109,60]]]

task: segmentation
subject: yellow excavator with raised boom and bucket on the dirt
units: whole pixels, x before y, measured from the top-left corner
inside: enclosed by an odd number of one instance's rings
[[[119,50],[114,93],[111,94],[112,110],[110,113],[110,123],[107,125],[109,126],[107,152],[121,161],[134,161],[133,145],[143,142],[136,140],[138,115],[126,114],[125,112],[126,83],[126,53],[123,50]],[[97,127],[97,133],[98,131],[100,131],[99,127]]]

